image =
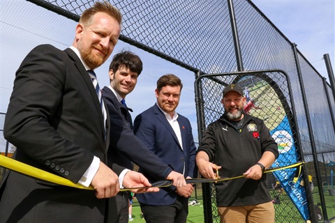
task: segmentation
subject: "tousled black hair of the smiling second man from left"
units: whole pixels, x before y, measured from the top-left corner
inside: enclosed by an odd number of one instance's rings
[[[130,51],[121,51],[113,56],[112,62],[110,63],[110,70],[113,70],[115,73],[121,66],[125,66],[129,68],[129,70],[137,72],[137,76],[140,75],[143,69],[140,56]]]

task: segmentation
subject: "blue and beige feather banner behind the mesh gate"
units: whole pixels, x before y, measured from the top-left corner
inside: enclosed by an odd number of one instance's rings
[[[281,89],[277,89],[278,86],[271,86],[265,79],[246,76],[239,81],[247,101],[244,112],[261,118],[278,144],[280,155],[271,167],[285,167],[301,161],[298,160],[295,140],[286,114],[290,112],[290,107]],[[278,95],[281,95],[281,98]],[[274,176],[304,220],[308,220],[306,190],[299,168],[275,171]]]

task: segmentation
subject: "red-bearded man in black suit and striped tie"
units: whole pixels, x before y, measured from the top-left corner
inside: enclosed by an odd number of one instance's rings
[[[107,162],[110,124],[93,72],[112,53],[121,13],[110,3],[84,10],[73,45],[40,45],[22,61],[3,130],[14,158],[94,190],[75,189],[14,171],[0,187],[1,222],[111,222],[108,202],[147,178]],[[134,190],[157,192],[158,188]]]

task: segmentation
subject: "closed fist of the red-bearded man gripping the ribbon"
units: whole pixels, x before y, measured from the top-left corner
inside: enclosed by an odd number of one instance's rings
[[[100,162],[100,167],[96,172],[91,185],[96,190],[96,197],[98,199],[113,197],[117,195],[120,190],[117,174],[103,162]]]

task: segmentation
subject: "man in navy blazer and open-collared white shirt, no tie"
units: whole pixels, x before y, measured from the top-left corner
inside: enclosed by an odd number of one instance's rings
[[[195,178],[196,148],[193,141],[191,123],[175,112],[182,89],[181,80],[175,75],[163,75],[158,79],[157,102],[134,121],[134,132],[150,151],[161,158],[165,164],[184,175]],[[151,182],[156,180],[146,169],[140,171]],[[193,186],[163,187],[158,193],[137,194],[146,222],[181,223],[188,215],[188,197]]]

